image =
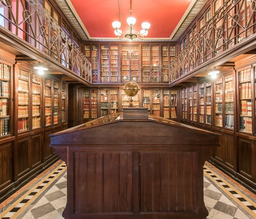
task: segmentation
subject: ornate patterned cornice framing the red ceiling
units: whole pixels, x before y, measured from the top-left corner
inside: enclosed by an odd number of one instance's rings
[[[67,15],[70,22],[73,24],[74,28],[76,29],[77,33],[79,33],[82,40],[92,40],[92,41],[117,41],[116,38],[98,38],[98,37],[91,37],[88,31],[86,30],[83,22],[79,18],[76,10],[74,9],[70,0],[56,0],[57,3],[60,5],[62,11]],[[177,41],[181,34],[185,31],[187,26],[196,16],[200,8],[203,6],[206,0],[194,0],[191,2],[190,7],[185,12],[184,16],[181,18],[181,22],[177,25],[175,30],[173,31],[170,38],[147,38],[143,41]],[[118,40],[119,41],[119,40]],[[124,39],[124,41],[127,41]],[[134,41],[141,41],[141,40],[134,40]]]

